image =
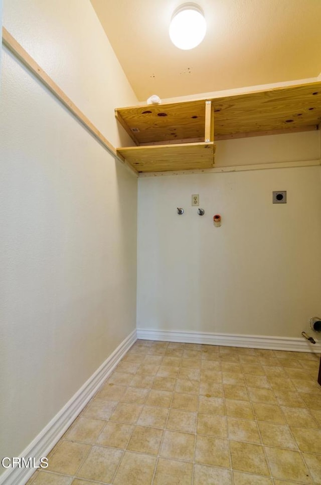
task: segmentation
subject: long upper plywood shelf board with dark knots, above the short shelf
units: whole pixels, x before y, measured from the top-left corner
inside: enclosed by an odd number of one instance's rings
[[[215,137],[231,135],[232,138],[235,134],[287,128],[304,130],[321,121],[321,82],[212,98],[211,101]],[[119,108],[116,113],[128,132],[132,134],[132,129],[138,129],[134,132],[138,143],[199,138],[204,133],[204,99]]]

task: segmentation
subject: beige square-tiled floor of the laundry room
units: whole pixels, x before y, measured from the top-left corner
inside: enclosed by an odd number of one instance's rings
[[[320,485],[318,364],[137,341],[28,485]]]

